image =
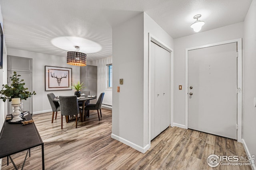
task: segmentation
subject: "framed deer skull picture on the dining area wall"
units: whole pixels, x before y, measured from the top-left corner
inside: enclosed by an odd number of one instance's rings
[[[45,91],[71,90],[72,68],[45,66]]]

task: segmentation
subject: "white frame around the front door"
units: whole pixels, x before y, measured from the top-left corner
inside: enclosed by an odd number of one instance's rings
[[[238,51],[238,58],[237,58],[237,88],[238,88],[238,94],[237,94],[237,124],[238,124],[237,141],[242,142],[242,38],[186,49],[186,66],[185,66],[185,69],[186,69],[185,70],[185,72],[186,72],[186,76],[185,76],[185,78],[186,78],[186,82],[185,82],[185,85],[186,85],[186,88],[185,88],[185,127],[186,127],[186,129],[188,129],[188,51],[194,50],[194,49],[201,49],[201,48],[205,48],[205,47],[212,47],[212,46],[216,46],[216,45],[236,43],[236,42],[237,42],[237,51]]]

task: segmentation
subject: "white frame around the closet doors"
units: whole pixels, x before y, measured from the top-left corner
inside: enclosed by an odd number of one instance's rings
[[[150,147],[151,143],[151,98],[154,96],[151,96],[151,74],[152,69],[151,68],[151,41],[155,44],[159,45],[160,47],[166,49],[170,52],[170,126],[173,127],[173,49],[170,48],[168,45],[160,41],[158,38],[156,38],[154,35],[148,33],[148,145]]]

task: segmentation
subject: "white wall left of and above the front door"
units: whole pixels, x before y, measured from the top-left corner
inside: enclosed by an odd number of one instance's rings
[[[185,126],[185,49],[243,37],[243,22],[174,39],[174,124]],[[182,85],[182,90],[178,86]]]

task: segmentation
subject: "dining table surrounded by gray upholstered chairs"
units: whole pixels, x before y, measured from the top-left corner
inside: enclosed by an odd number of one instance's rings
[[[80,114],[80,121],[81,122],[83,122],[85,117],[86,117],[84,107],[89,104],[90,100],[93,100],[93,99],[96,99],[96,98],[97,98],[97,96],[89,96],[89,97],[88,96],[80,96],[80,97],[77,98],[78,102],[82,103],[82,114]],[[56,102],[60,102],[58,96],[56,98],[54,98],[53,100],[56,101]],[[89,113],[88,113],[87,116],[89,117]],[[66,122],[67,123],[70,122],[70,119],[69,119],[68,116],[66,116]]]

